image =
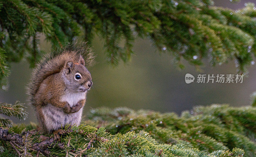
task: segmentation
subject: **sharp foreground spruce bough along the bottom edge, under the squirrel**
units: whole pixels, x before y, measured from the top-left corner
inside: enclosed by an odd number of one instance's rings
[[[70,130],[69,127],[64,130]],[[9,130],[12,136],[17,136],[13,133],[13,129]],[[12,149],[10,143],[2,142],[3,156],[36,156],[41,152],[35,151],[35,145],[43,143],[40,138],[40,133],[31,134],[28,131],[21,133],[21,143],[16,144]],[[4,141],[4,140],[2,140]],[[1,141],[0,141],[1,142]],[[48,141],[47,141],[48,142]],[[46,142],[45,142],[46,143]],[[60,147],[62,145],[63,147]],[[242,149],[234,148],[232,151],[218,150],[212,153],[200,151],[196,148],[191,148],[184,144],[171,145],[159,144],[147,132],[140,131],[139,133],[127,132],[125,134],[117,133],[110,135],[102,127],[96,129],[89,125],[80,125],[73,127],[62,136],[59,143],[52,142],[50,147],[47,147],[47,152],[41,155],[46,156],[243,156]]]

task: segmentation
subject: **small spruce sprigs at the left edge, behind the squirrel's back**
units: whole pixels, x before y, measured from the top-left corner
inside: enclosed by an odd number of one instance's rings
[[[0,103],[0,114],[8,117],[16,117],[20,120],[25,120],[28,113],[25,111],[23,104],[16,101],[14,105],[7,103]],[[12,121],[9,119],[0,118],[0,127],[12,127]]]

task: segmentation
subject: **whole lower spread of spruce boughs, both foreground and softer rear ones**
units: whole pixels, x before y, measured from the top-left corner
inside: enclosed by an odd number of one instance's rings
[[[60,142],[35,131],[33,123],[0,128],[0,151],[3,156],[256,156],[251,106],[198,106],[181,116],[103,107],[86,117],[78,127],[65,126]]]

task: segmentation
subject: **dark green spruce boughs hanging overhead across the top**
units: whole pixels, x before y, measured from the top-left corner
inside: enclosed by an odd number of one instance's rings
[[[236,0],[238,1],[238,0]],[[229,2],[227,0],[227,2]],[[212,65],[235,59],[246,72],[256,52],[254,4],[239,11],[213,6],[212,0],[0,0],[0,80],[6,84],[10,62],[26,58],[33,67],[41,54],[39,35],[53,47],[63,47],[83,34],[85,42],[100,35],[108,61],[131,59],[134,38],[150,39],[168,51],[174,63],[182,59],[199,66],[209,56]]]

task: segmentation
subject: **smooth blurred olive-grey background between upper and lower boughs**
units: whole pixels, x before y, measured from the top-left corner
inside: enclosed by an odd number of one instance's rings
[[[234,10],[243,8],[245,3],[256,3],[255,0],[242,0],[234,4],[228,0],[215,0],[216,6],[228,7]],[[132,109],[150,109],[159,112],[175,112],[180,114],[190,110],[193,106],[211,104],[229,104],[230,106],[250,105],[250,95],[256,90],[256,67],[249,68],[249,74],[243,83],[185,83],[187,73],[198,74],[237,74],[234,60],[228,64],[211,67],[208,60],[204,60],[202,71],[184,60],[186,68],[180,70],[172,64],[172,56],[161,53],[148,39],[137,38],[134,42],[135,54],[129,63],[122,63],[113,67],[107,63],[104,54],[104,43],[96,36],[92,42],[97,64],[89,67],[92,74],[93,86],[87,94],[84,112],[91,108],[107,106],[126,106]],[[51,51],[51,44],[41,37],[40,47],[46,52]],[[28,63],[12,63],[9,89],[0,90],[0,102],[13,104],[16,100],[28,107],[28,119],[36,122],[33,108],[27,105],[26,85],[30,73]],[[20,121],[12,119],[15,123]]]

